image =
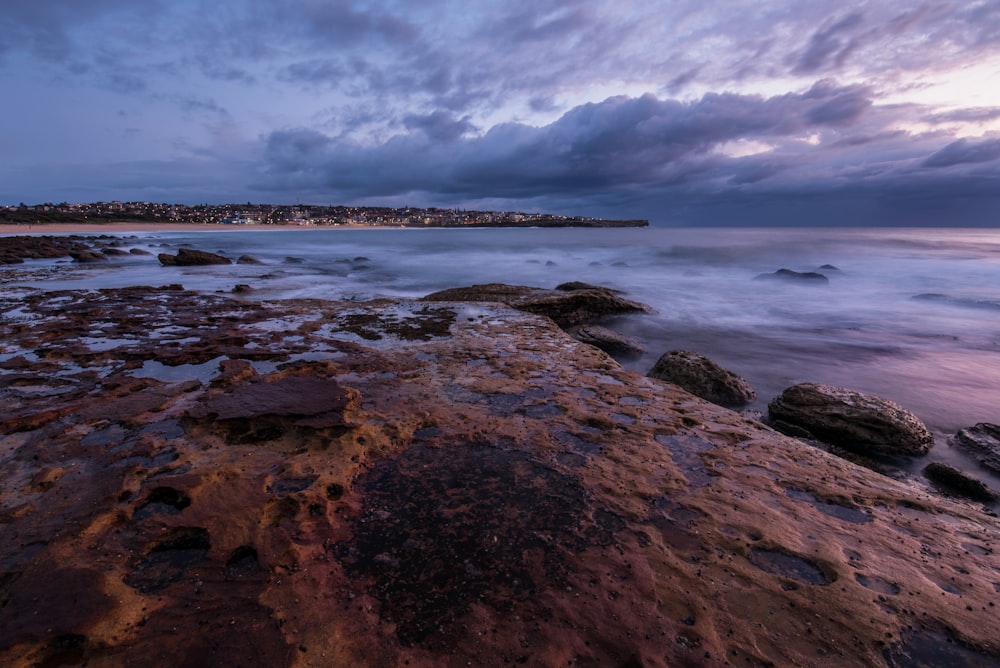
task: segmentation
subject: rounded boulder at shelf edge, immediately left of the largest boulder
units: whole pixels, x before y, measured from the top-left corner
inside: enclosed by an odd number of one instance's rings
[[[664,353],[646,375],[678,385],[720,406],[745,406],[757,397],[745,379],[689,350]]]

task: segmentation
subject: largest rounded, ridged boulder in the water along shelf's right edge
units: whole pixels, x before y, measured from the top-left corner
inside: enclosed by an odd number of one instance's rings
[[[888,399],[833,385],[802,383],[768,405],[772,420],[862,454],[925,455],[934,437],[920,419]]]

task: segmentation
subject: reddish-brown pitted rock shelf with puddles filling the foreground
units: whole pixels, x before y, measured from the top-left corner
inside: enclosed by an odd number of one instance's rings
[[[624,370],[611,291],[2,301],[4,665],[1000,665],[997,517]]]

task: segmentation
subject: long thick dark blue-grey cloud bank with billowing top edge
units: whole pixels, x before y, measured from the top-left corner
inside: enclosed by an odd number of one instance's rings
[[[419,132],[372,146],[336,143],[306,130],[274,133],[268,163],[274,176],[304,173],[314,183],[352,192],[586,196],[594,189],[696,182],[727,162],[711,153],[725,142],[843,127],[864,115],[865,99],[864,88],[828,82],[772,98],[713,94],[680,103],[617,97],[576,107],[544,127],[503,123],[464,139],[468,121],[438,112],[408,118],[407,126]],[[746,183],[778,171],[777,165],[739,164],[719,176]]]

